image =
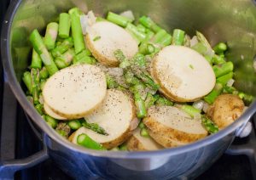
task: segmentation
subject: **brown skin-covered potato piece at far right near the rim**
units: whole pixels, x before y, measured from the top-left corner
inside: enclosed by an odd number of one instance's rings
[[[222,94],[216,98],[207,110],[207,115],[216,123],[219,129],[223,129],[241,116],[244,107],[243,101],[238,96]]]

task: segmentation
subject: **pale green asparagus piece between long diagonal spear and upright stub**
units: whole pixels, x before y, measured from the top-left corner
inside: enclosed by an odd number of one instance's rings
[[[55,41],[58,36],[58,28],[59,25],[55,22],[51,22],[46,26],[44,45],[48,50],[55,48]]]

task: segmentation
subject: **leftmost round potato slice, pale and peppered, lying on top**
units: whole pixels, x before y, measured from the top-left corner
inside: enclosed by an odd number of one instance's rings
[[[57,115],[75,119],[95,110],[107,93],[105,74],[95,65],[73,65],[50,76],[44,102]]]

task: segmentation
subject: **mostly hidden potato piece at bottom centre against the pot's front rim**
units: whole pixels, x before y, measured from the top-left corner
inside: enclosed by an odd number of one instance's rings
[[[140,150],[159,150],[163,149],[159,143],[156,143],[152,138],[144,138],[140,134],[141,129],[137,128],[131,138],[127,141],[127,148],[131,151]]]

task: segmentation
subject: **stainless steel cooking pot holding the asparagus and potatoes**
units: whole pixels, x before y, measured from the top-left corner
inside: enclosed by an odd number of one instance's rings
[[[256,44],[256,7],[251,0],[16,0],[3,22],[1,50],[9,85],[15,93],[45,148],[25,160],[1,162],[0,178],[50,156],[62,170],[77,179],[171,179],[194,178],[204,172],[229,148],[235,135],[256,111],[254,102],[230,127],[196,143],[154,152],[108,152],[84,149],[58,136],[38,115],[25,96],[20,77],[29,63],[29,33],[44,30],[50,20],[73,6],[96,14],[108,10],[131,9],[136,16],[150,15],[167,30],[181,28],[189,34],[195,30],[207,35],[212,44],[228,42],[228,59],[236,65],[236,87],[256,95],[253,57]]]

